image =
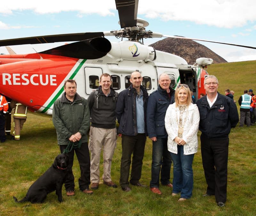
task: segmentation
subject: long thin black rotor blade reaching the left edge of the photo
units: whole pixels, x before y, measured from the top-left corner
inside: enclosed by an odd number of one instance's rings
[[[66,42],[66,41],[80,41],[88,40],[97,37],[104,37],[103,32],[85,32],[85,33],[72,33],[72,34],[56,34],[56,35],[44,35],[28,38],[15,38],[0,40],[1,46],[23,45],[23,44],[44,44],[54,42]]]

